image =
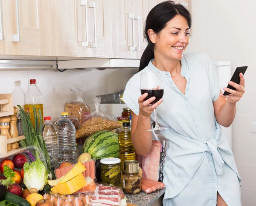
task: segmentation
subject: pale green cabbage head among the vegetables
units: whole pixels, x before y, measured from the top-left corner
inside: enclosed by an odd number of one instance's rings
[[[29,189],[30,193],[37,193],[39,190],[43,190],[47,183],[48,171],[44,163],[40,159],[36,159],[30,165],[25,163],[24,169],[24,184]]]

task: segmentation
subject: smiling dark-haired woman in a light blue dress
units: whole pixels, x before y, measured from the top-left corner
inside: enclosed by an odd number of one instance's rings
[[[244,77],[223,96],[211,60],[206,54],[183,55],[189,44],[189,11],[172,1],[155,6],[145,23],[148,46],[140,72],[127,83],[123,99],[132,110],[132,141],[137,154],[146,156],[152,136],[147,130],[157,107],[160,133],[168,139],[164,179],[164,206],[241,206],[240,177],[219,124],[229,127],[236,102],[244,94]],[[164,96],[144,101],[140,74],[160,72]],[[225,99],[227,98],[227,100]]]

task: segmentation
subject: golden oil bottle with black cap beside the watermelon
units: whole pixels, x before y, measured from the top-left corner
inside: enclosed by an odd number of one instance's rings
[[[130,122],[123,122],[123,128],[119,132],[119,159],[122,173],[124,171],[125,160],[135,160],[134,146],[131,141]]]

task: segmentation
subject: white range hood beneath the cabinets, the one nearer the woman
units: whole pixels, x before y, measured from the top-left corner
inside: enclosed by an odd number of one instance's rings
[[[82,59],[58,61],[58,69],[139,68],[140,59]]]

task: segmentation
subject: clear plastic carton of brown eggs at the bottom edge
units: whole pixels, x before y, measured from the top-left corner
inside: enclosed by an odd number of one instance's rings
[[[53,206],[88,206],[94,192],[86,194],[59,195],[59,194],[44,194],[44,199],[50,200]]]

